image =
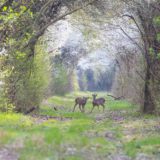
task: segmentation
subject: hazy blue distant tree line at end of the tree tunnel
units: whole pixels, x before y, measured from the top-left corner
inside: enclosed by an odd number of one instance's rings
[[[95,69],[90,67],[86,70],[78,68],[78,81],[82,91],[111,91],[115,79],[116,64],[109,68]]]

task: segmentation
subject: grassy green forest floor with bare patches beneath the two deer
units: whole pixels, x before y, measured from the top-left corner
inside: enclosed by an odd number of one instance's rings
[[[0,160],[160,160],[160,117],[106,97],[104,112],[85,113],[74,93],[46,100],[29,116],[0,113]],[[54,108],[57,108],[57,111]]]

